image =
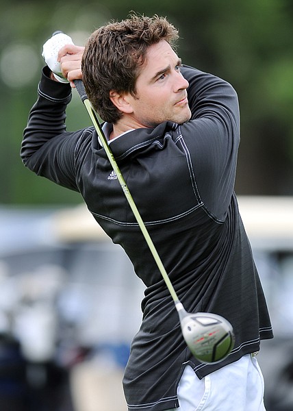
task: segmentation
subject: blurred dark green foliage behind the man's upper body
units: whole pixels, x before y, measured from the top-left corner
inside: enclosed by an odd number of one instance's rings
[[[0,15],[0,203],[77,203],[79,195],[36,177],[21,163],[23,129],[43,65],[42,44],[56,29],[77,44],[110,19],[168,16],[179,28],[183,62],[231,82],[238,91],[242,142],[240,194],[292,195],[293,3],[290,0],[13,1]],[[90,124],[73,99],[68,129]]]

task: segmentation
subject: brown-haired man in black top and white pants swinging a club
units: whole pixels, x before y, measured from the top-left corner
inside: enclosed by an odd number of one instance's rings
[[[146,285],[123,386],[129,410],[264,410],[253,353],[272,329],[233,192],[240,140],[230,84],[183,66],[166,18],[131,16],[59,53],[68,81],[82,78],[171,282],[188,312],[231,322],[224,361],[192,357],[160,271],[93,127],[66,132],[71,87],[42,72],[21,156],[25,166],[84,197]],[[110,297],[110,296],[109,296]],[[178,408],[179,407],[179,408]]]

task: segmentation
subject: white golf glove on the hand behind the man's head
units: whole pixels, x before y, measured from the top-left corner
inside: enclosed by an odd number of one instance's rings
[[[57,61],[58,51],[65,45],[73,45],[71,37],[64,33],[53,34],[42,47],[42,57],[46,62],[49,69],[53,72],[53,75],[58,82],[69,83],[68,79],[63,77],[61,72],[61,64]]]

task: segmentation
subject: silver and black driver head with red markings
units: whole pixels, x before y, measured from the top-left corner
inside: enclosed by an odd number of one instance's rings
[[[213,364],[227,358],[235,343],[229,321],[208,312],[180,314],[183,338],[197,360]]]

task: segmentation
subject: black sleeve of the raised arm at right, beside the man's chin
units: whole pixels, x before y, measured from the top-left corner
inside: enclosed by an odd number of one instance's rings
[[[181,125],[201,201],[225,220],[234,190],[240,143],[238,95],[233,86],[209,73],[183,67],[192,118]]]

